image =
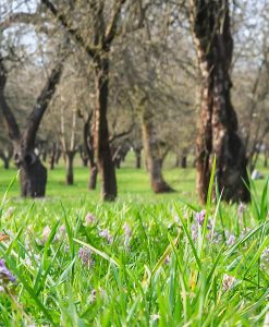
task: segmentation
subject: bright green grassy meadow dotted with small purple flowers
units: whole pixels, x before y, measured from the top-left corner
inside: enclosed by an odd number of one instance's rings
[[[268,326],[267,181],[247,206],[201,206],[193,168],[168,161],[176,193],[155,195],[133,159],[110,204],[86,190],[80,162],[75,185],[61,165],[36,201],[0,168],[0,325]]]

